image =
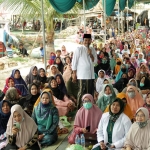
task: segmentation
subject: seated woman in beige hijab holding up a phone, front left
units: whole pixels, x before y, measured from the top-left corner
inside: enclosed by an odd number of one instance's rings
[[[7,124],[6,135],[8,144],[5,150],[40,150],[37,125],[20,105],[16,104],[11,108],[11,116]]]

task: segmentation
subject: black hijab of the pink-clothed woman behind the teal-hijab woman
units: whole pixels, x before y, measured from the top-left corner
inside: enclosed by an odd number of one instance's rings
[[[51,77],[51,78],[49,79],[49,82],[48,82],[49,88],[52,90],[53,95],[54,95],[56,98],[58,98],[59,100],[63,100],[64,94],[63,94],[63,92],[60,91],[60,89],[58,88],[58,86],[57,86],[56,88],[52,88],[52,87],[51,87],[51,82],[52,82],[52,80],[55,80],[55,81],[56,81],[56,79],[55,79],[54,77]]]

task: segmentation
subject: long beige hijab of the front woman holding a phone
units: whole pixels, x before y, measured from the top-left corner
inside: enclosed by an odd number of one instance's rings
[[[21,114],[23,120],[20,123],[20,131],[16,136],[16,145],[20,148],[25,146],[32,137],[34,136],[35,132],[37,131],[37,125],[35,124],[34,120],[21,108],[20,105],[14,105],[11,107],[11,116],[9,118],[6,134],[12,135],[12,128],[14,125],[13,114],[17,111]]]

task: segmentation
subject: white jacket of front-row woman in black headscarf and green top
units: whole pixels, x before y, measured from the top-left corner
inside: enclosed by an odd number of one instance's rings
[[[109,112],[104,113],[100,120],[97,130],[97,140],[98,142],[104,141],[104,143],[108,143],[108,133],[107,126],[109,123]],[[128,133],[132,123],[128,116],[122,113],[119,118],[116,120],[113,132],[112,132],[112,145],[116,148],[122,148],[125,142],[126,134]]]

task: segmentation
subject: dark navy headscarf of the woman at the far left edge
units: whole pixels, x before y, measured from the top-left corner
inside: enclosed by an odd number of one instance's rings
[[[7,114],[3,113],[2,106],[3,106],[4,102],[7,102],[9,107],[11,108],[11,104],[10,104],[9,101],[3,100],[3,101],[0,102],[0,135],[4,134],[6,132],[7,122],[9,120],[10,115],[11,115],[10,111]]]

